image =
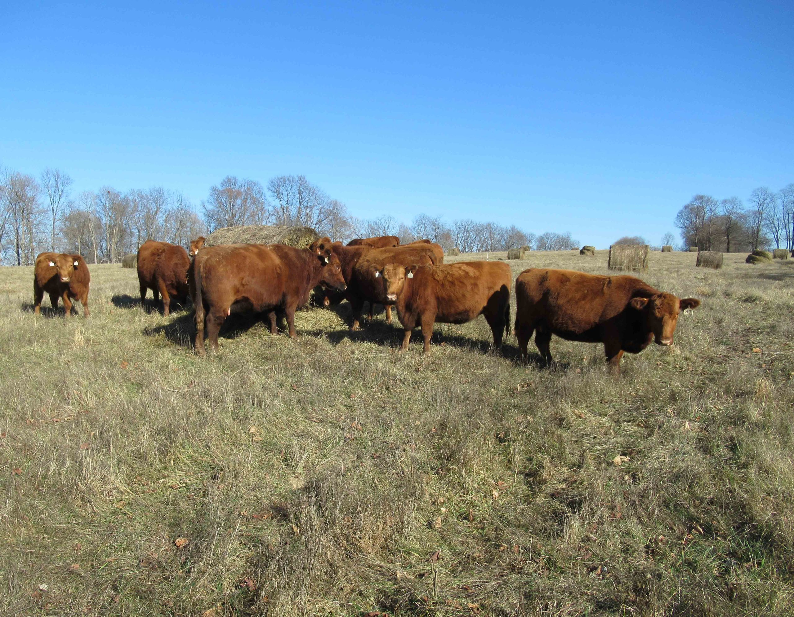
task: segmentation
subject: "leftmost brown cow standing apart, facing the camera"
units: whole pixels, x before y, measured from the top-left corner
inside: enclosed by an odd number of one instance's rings
[[[63,298],[67,319],[71,317],[71,299],[79,300],[83,305],[84,316],[90,316],[88,310],[88,288],[91,286],[91,274],[81,255],[71,253],[40,253],[36,258],[33,273],[33,305],[34,312],[41,312],[41,300],[44,292],[50,297],[53,309],[58,307],[58,298]]]

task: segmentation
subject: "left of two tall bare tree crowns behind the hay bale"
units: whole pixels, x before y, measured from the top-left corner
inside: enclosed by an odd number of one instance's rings
[[[202,201],[209,231],[219,227],[264,223],[266,201],[262,185],[256,180],[226,176]]]

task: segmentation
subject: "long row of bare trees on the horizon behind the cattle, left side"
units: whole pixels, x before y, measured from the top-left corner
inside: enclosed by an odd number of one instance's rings
[[[73,251],[88,263],[118,263],[147,239],[186,246],[216,228],[244,224],[299,225],[322,236],[348,241],[357,237],[399,236],[403,243],[428,238],[445,249],[464,252],[507,251],[529,246],[541,251],[578,247],[570,233],[539,236],[511,225],[471,219],[446,223],[419,215],[410,224],[390,215],[352,217],[303,175],[272,178],[266,187],[249,178],[227,176],[211,186],[196,207],[177,190],[160,186],[126,192],[111,186],[73,195],[72,178],[46,169],[38,178],[0,169],[0,258],[29,265],[40,251]]]

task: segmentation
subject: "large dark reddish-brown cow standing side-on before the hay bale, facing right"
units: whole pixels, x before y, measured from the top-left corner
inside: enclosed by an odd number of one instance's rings
[[[322,283],[345,289],[341,264],[328,238],[309,248],[282,244],[225,244],[204,247],[191,266],[195,302],[195,351],[204,354],[204,327],[210,347],[218,350],[218,331],[234,312],[266,312],[276,332],[276,310],[287,316],[295,338],[295,310],[306,304],[311,289]]]

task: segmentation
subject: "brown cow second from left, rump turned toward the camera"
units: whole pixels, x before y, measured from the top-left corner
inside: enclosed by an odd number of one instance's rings
[[[163,297],[163,316],[168,317],[171,298],[180,305],[187,300],[187,270],[191,260],[183,247],[168,242],[146,240],[138,249],[138,284],[141,286],[141,305],[146,300],[146,290],[152,289],[155,303],[157,294]]]

